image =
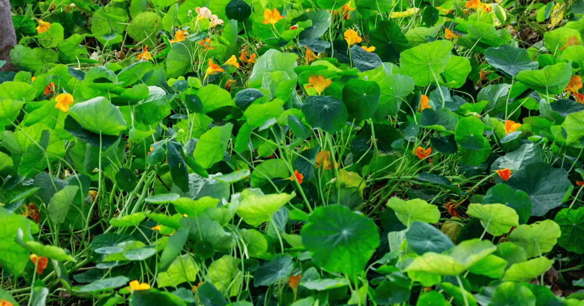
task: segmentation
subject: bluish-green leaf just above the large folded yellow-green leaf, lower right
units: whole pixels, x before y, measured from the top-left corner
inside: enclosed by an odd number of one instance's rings
[[[436,227],[419,221],[412,223],[405,233],[405,238],[409,247],[419,255],[426,252],[442,253],[454,247],[447,235]]]

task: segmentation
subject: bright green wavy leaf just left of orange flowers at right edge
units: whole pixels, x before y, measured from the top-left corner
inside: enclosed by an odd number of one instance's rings
[[[564,92],[572,76],[572,65],[558,63],[540,70],[524,70],[517,74],[517,80],[543,94]]]

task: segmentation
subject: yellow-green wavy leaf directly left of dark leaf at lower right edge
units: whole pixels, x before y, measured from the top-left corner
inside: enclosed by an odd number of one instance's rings
[[[557,223],[543,220],[518,226],[507,237],[507,241],[524,248],[527,258],[532,258],[551,251],[560,236],[561,231]]]

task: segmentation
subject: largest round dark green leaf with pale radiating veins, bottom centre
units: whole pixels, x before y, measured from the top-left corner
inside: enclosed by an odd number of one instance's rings
[[[363,272],[380,244],[373,220],[345,206],[318,207],[300,235],[317,266],[348,275]]]

